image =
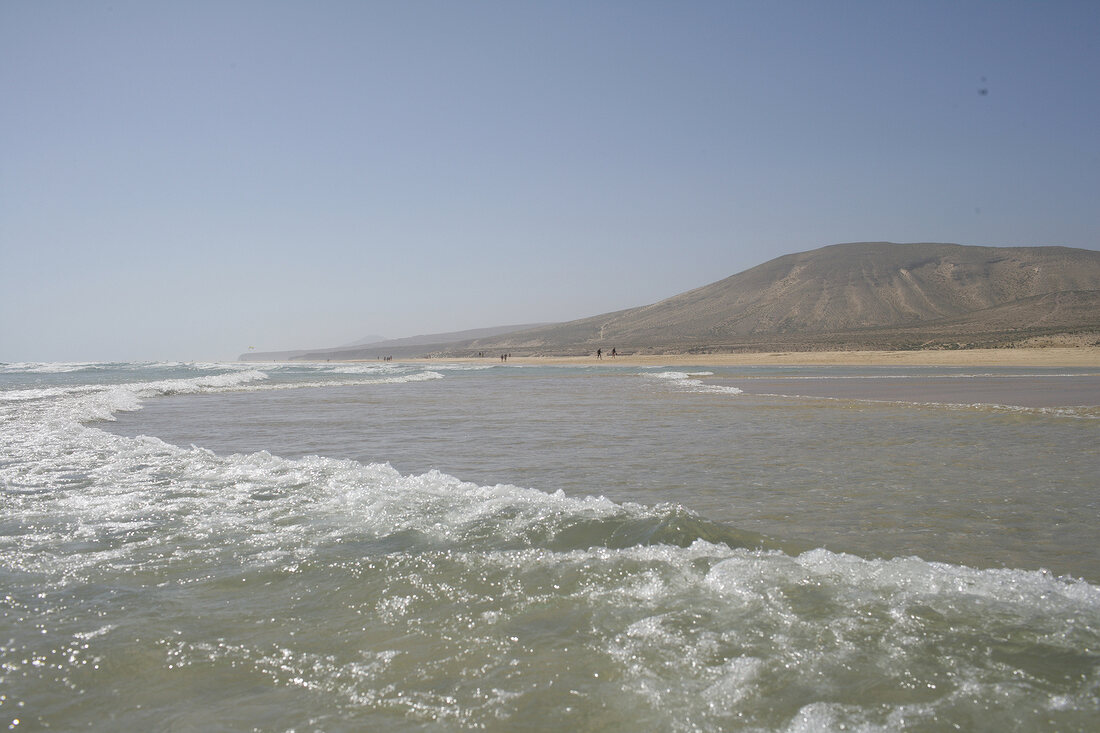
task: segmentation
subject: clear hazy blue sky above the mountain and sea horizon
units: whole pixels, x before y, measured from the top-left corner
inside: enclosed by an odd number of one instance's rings
[[[0,0],[0,361],[563,321],[850,241],[1100,249],[1100,3]]]

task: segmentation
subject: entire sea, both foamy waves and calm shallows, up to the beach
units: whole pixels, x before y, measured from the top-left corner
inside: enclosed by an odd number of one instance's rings
[[[1093,731],[1100,369],[0,364],[0,725]]]

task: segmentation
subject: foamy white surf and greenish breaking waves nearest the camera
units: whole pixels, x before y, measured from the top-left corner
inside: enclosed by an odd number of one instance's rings
[[[96,424],[373,376],[294,374],[4,403],[9,725],[1085,731],[1100,712],[1100,589],[1082,580],[800,551],[674,503]],[[684,375],[659,379],[705,376]]]

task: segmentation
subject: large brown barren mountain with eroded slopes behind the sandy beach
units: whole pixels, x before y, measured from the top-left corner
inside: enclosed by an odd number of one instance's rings
[[[1100,252],[857,242],[788,254],[639,308],[450,353],[958,348],[1100,332]]]

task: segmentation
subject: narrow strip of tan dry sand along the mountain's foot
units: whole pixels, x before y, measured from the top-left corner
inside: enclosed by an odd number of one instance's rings
[[[376,360],[355,360],[373,363]],[[619,354],[586,357],[395,358],[405,363],[595,364],[606,366],[1092,366],[1100,369],[1100,347],[1038,349],[959,349],[943,351],[773,351],[759,353]]]

